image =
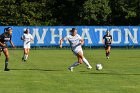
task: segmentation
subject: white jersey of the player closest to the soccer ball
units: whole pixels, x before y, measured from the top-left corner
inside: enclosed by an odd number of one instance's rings
[[[82,38],[78,34],[76,34],[75,36],[68,35],[67,37],[64,38],[64,40],[69,41],[72,51],[82,49],[80,39]]]

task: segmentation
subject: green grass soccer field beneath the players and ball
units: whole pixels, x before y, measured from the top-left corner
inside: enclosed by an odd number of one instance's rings
[[[9,72],[0,57],[0,93],[140,93],[140,50],[84,50],[92,65],[67,70],[77,59],[70,50],[31,50],[22,62],[22,50],[10,50]],[[101,63],[103,69],[95,70]]]

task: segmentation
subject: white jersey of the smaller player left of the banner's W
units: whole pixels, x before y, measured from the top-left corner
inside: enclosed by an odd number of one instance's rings
[[[31,34],[24,34],[22,36],[23,42],[24,42],[24,48],[30,48],[30,42],[33,40],[33,37]]]

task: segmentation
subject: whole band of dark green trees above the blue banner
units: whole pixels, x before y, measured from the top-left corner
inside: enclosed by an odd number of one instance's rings
[[[0,25],[139,25],[139,0],[0,0]]]

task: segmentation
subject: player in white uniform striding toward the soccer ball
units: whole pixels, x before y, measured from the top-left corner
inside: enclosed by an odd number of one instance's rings
[[[84,40],[80,37],[80,35],[77,34],[77,29],[72,28],[70,32],[71,34],[69,36],[62,38],[60,40],[60,48],[62,48],[62,42],[64,40],[69,41],[71,50],[77,56],[78,59],[78,61],[74,62],[74,64],[72,64],[68,69],[70,71],[73,71],[74,67],[78,66],[79,64],[82,64],[83,62],[86,64],[88,69],[91,69],[92,68],[91,65],[83,55],[82,45],[84,44]]]

